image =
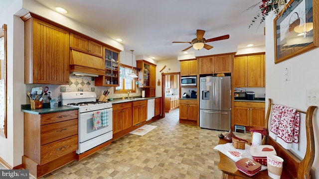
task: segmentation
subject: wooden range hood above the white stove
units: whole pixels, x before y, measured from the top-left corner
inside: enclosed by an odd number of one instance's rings
[[[70,75],[89,77],[105,75],[104,59],[99,56],[71,49]]]

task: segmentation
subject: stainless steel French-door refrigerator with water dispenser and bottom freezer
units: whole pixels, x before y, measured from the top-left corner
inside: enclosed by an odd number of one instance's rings
[[[230,77],[200,77],[199,126],[230,130]]]

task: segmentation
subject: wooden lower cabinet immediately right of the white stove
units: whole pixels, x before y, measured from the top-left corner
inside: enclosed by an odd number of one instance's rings
[[[132,127],[132,102],[113,104],[113,135]]]

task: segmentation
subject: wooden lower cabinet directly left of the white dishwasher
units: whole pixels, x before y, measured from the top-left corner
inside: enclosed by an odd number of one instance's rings
[[[133,125],[145,122],[148,117],[148,100],[133,102]]]

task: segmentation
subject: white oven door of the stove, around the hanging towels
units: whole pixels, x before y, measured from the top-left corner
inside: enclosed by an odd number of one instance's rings
[[[112,131],[112,108],[106,110],[108,110],[109,125],[101,126],[97,130],[93,130],[92,116],[94,111],[79,114],[79,143]]]

